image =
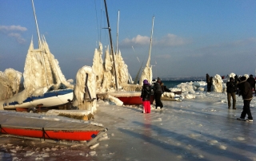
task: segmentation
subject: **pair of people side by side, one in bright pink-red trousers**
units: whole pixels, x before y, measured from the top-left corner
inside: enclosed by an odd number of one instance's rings
[[[157,109],[160,107],[162,109],[162,101],[161,101],[161,96],[162,93],[164,92],[164,86],[162,84],[161,79],[158,77],[158,80],[154,82],[154,85],[151,86],[149,81],[144,80],[143,81],[143,86],[142,86],[142,103],[143,103],[143,113],[150,113],[150,96],[151,92],[154,92],[154,100],[155,100],[155,108]]]

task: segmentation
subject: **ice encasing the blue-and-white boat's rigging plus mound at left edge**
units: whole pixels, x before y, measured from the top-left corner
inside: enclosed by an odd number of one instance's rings
[[[74,85],[66,81],[44,37],[42,41],[39,39],[39,49],[34,49],[31,40],[23,75],[14,69],[6,69],[4,73],[0,73],[0,85],[2,86],[0,108],[3,108],[3,104],[8,105],[11,102],[22,104],[31,96],[42,96],[49,88],[51,90],[74,88]]]

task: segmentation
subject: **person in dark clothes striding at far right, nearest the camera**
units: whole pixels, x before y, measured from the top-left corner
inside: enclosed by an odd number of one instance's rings
[[[241,116],[238,118],[238,120],[247,120],[250,122],[253,122],[253,116],[251,116],[250,112],[250,100],[253,99],[253,92],[250,87],[250,83],[246,81],[246,77],[240,78],[240,83],[238,84],[239,88],[239,96],[242,95],[243,100],[243,108]],[[248,115],[248,119],[246,118],[246,115]]]

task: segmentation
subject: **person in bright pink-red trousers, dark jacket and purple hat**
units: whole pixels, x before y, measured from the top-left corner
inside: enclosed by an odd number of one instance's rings
[[[150,96],[151,96],[151,85],[147,80],[143,81],[142,86],[142,102],[143,102],[143,113],[150,113]]]

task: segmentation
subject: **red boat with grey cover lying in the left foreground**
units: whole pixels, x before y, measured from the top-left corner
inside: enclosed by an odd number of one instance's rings
[[[43,139],[88,141],[100,132],[102,126],[60,116],[45,116],[22,112],[0,112],[0,133]]]

